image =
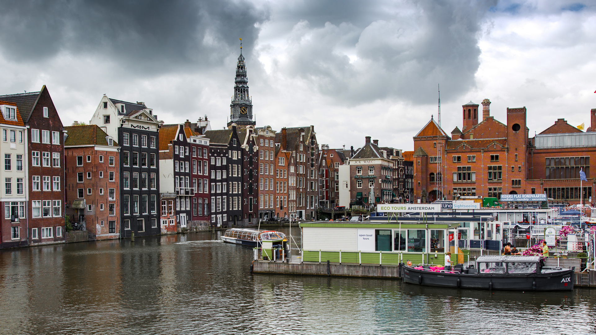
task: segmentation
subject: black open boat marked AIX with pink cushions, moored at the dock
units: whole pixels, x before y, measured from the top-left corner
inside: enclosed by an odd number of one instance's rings
[[[546,267],[540,256],[479,256],[473,266],[401,264],[406,283],[424,286],[516,291],[572,291],[575,267]]]

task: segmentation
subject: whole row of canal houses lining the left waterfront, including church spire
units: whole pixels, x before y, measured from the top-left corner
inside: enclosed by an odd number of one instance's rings
[[[45,86],[2,95],[0,108],[0,247],[64,243],[73,228],[104,240],[333,218],[412,194],[401,150],[370,137],[330,149],[313,126],[257,127],[242,54],[226,129],[207,116],[164,124],[145,103],[107,95],[88,124],[64,126]]]

